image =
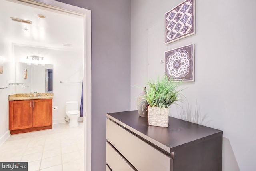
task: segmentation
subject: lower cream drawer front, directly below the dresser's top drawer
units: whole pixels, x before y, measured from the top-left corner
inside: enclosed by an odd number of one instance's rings
[[[112,171],[134,171],[108,142],[106,142],[106,163]]]

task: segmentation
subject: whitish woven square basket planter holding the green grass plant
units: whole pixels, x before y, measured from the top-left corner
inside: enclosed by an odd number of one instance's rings
[[[168,127],[169,108],[148,106],[148,125]]]

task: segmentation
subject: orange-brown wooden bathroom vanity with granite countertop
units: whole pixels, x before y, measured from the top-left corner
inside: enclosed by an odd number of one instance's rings
[[[53,93],[9,96],[9,130],[11,134],[52,128]]]

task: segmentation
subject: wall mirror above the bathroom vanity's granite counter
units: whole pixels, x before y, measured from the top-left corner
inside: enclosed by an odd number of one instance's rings
[[[28,65],[22,62],[16,62],[15,80],[18,85],[17,93],[53,93],[53,65]],[[26,78],[24,77],[26,70]]]

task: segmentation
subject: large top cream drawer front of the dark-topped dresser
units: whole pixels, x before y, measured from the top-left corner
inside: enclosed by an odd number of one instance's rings
[[[138,171],[170,171],[173,159],[107,119],[107,140]],[[110,166],[111,167],[111,166]]]

